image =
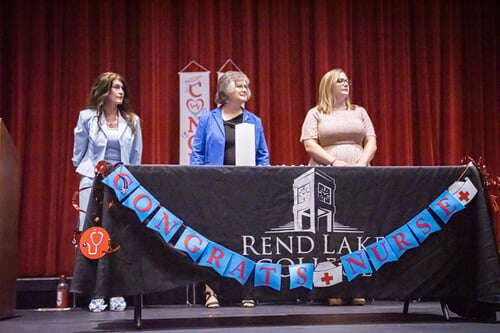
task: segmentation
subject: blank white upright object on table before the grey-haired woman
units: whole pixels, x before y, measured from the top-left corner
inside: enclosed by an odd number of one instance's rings
[[[255,166],[255,125],[240,123],[234,127],[236,165]]]

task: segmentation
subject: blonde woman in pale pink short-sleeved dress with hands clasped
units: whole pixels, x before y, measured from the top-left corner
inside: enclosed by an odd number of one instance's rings
[[[373,124],[364,108],[351,103],[350,81],[342,69],[326,73],[319,84],[318,105],[307,112],[300,141],[312,166],[368,166],[377,141]],[[354,298],[352,304],[365,304]],[[341,298],[330,298],[341,305]]]

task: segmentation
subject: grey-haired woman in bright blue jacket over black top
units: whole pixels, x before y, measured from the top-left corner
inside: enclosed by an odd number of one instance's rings
[[[204,113],[198,122],[193,139],[191,165],[235,165],[235,126],[240,123],[255,127],[255,165],[269,165],[264,129],[259,117],[245,110],[245,103],[252,95],[250,80],[242,72],[224,73],[217,82],[215,102],[219,107]],[[243,290],[244,307],[254,307],[251,289]],[[205,306],[219,307],[217,295],[205,285]]]

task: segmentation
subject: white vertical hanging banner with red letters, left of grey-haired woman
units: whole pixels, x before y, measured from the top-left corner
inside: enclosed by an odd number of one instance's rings
[[[189,165],[203,110],[210,107],[210,72],[179,72],[179,164]]]

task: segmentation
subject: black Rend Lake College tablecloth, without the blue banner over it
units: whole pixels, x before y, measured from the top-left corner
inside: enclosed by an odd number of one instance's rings
[[[185,225],[252,260],[279,262],[286,274],[288,264],[336,260],[389,234],[425,209],[466,166],[127,168]],[[304,177],[310,173],[329,184],[330,192],[314,181],[304,186]],[[292,298],[298,293],[311,298],[430,296],[497,303],[500,270],[491,218],[479,173],[471,167],[465,176],[479,190],[474,200],[448,224],[441,224],[441,231],[397,262],[384,265],[370,276],[329,288],[290,291],[284,277],[281,292],[267,287],[258,287],[256,292],[261,297]],[[294,207],[310,195],[308,191],[316,193],[316,204],[329,202],[330,213],[325,216],[333,219],[335,230],[328,231],[328,221],[323,217],[303,220],[309,231],[290,231],[296,220]],[[98,261],[79,254],[73,291],[135,295],[202,280],[235,283],[196,265],[165,243],[158,233],[140,223],[133,211],[121,206],[112,190],[99,180],[92,192],[86,227],[95,225],[99,216],[98,223],[108,230],[113,246],[119,244],[120,250]]]

